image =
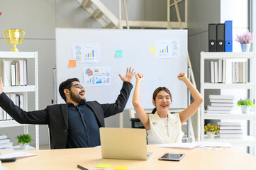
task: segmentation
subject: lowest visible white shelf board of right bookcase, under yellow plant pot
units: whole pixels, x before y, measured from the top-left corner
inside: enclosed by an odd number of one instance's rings
[[[230,142],[231,145],[236,146],[255,146],[255,137],[245,135],[243,138],[220,138],[218,136],[214,137],[214,139],[207,138],[207,135],[204,137],[204,141],[206,142]]]

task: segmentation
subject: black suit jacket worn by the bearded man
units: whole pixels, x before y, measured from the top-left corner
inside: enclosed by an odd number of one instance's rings
[[[86,104],[96,116],[99,127],[104,127],[104,118],[121,113],[126,106],[133,85],[123,82],[123,87],[115,103],[100,104],[87,101]],[[67,144],[68,116],[67,103],[47,106],[40,111],[23,111],[6,94],[0,94],[0,106],[21,124],[49,125],[51,149],[63,149]]]

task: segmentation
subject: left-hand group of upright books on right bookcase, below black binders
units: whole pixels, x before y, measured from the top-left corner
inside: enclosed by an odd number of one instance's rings
[[[211,61],[211,83],[226,83],[226,60]]]

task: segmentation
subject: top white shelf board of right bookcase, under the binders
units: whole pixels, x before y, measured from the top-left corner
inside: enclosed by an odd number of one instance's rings
[[[201,52],[202,54],[204,60],[255,58],[255,52]]]

